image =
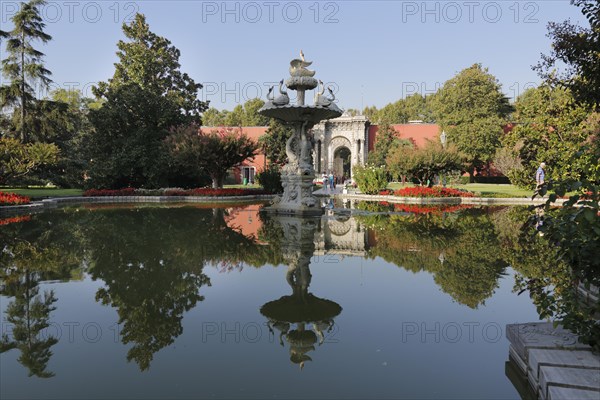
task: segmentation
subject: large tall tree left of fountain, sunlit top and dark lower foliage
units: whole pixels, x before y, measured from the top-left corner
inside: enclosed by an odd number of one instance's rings
[[[95,128],[86,146],[89,186],[160,187],[169,181],[163,142],[169,132],[200,123],[207,104],[202,85],[179,68],[180,52],[150,31],[143,15],[123,25],[115,73],[94,93],[102,107],[90,110]]]

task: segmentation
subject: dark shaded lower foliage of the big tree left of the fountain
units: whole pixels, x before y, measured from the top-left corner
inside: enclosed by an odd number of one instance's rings
[[[89,113],[95,131],[85,143],[90,160],[86,185],[117,189],[166,184],[163,142],[179,109],[134,83],[110,89],[105,99],[100,109]]]

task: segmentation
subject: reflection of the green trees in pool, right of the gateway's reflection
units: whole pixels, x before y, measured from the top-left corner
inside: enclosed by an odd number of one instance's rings
[[[413,272],[432,273],[444,292],[471,308],[494,293],[507,265],[495,225],[482,210],[357,218],[375,233],[371,257]]]

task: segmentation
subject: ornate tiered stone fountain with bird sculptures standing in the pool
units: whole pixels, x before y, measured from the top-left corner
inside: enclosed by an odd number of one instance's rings
[[[324,95],[323,82],[314,78],[315,71],[306,68],[311,64],[311,61],[304,59],[302,51],[300,51],[300,59],[290,62],[290,77],[285,81],[285,87],[297,92],[296,104],[290,104],[282,79],[279,83],[279,96],[274,96],[271,87],[267,102],[258,110],[260,114],[276,118],[292,127],[294,131],[286,143],[288,163],[281,171],[283,195],[275,199],[271,206],[266,207],[266,211],[299,215],[322,213],[319,202],[312,194],[315,171],[314,139],[310,130],[325,119],[339,117],[342,115],[342,110],[335,104],[335,95],[331,88],[327,88],[330,95]],[[320,90],[315,94],[313,105],[306,105],[306,91],[317,87],[320,87]]]

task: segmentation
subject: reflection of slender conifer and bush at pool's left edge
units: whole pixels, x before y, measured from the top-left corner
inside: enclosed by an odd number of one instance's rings
[[[57,301],[53,291],[40,294],[39,284],[46,280],[68,280],[79,267],[80,258],[70,248],[75,230],[64,223],[45,229],[46,217],[36,217],[27,224],[13,224],[0,229],[0,295],[12,298],[5,319],[12,332],[0,340],[0,353],[17,349],[18,361],[29,376],[50,378],[47,370],[50,350],[58,340],[43,332]]]

